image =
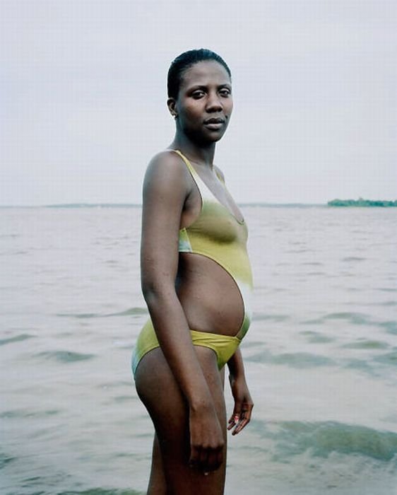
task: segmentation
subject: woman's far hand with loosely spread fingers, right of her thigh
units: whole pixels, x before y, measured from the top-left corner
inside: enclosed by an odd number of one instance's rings
[[[227,429],[231,430],[234,428],[232,435],[237,435],[237,433],[249,424],[254,402],[252,402],[244,375],[235,377],[235,375],[230,374],[229,381],[232,395],[235,399],[235,408],[229,419]]]

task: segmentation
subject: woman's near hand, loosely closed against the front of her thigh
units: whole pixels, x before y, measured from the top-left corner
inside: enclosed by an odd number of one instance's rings
[[[189,411],[190,459],[189,465],[215,471],[223,463],[225,441],[213,404],[200,410]]]

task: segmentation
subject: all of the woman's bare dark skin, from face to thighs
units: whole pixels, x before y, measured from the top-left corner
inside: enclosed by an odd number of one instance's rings
[[[218,62],[198,62],[184,72],[170,149],[189,158],[215,197],[242,214],[213,165],[215,144],[232,113],[230,77]],[[227,363],[235,407],[226,424],[223,371],[212,349],[194,346],[189,328],[235,335],[244,307],[235,282],[201,255],[178,252],[179,229],[200,214],[201,197],[189,170],[172,151],[150,161],[143,185],[141,283],[160,348],[143,356],[136,389],[155,426],[148,494],[223,494],[226,429],[249,423],[253,403],[239,349]],[[211,273],[211,277],[208,277]]]

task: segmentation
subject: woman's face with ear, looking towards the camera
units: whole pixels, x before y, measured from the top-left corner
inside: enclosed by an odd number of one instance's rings
[[[219,141],[232,115],[232,83],[223,65],[198,62],[182,77],[176,100],[168,101],[177,129],[198,143]]]

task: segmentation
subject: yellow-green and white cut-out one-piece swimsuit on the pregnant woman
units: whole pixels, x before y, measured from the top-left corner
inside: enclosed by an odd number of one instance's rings
[[[201,195],[201,211],[198,219],[189,227],[179,230],[179,252],[206,256],[223,267],[235,281],[244,305],[242,325],[235,336],[190,330],[191,341],[195,346],[208,347],[215,351],[220,369],[235,354],[251,322],[249,296],[252,291],[252,274],[247,253],[247,225],[244,220],[239,221],[215,198],[180,151],[172,151],[178,153],[186,164]],[[160,347],[160,344],[153,323],[149,319],[138,336],[132,356],[134,375],[143,356],[157,347]]]

